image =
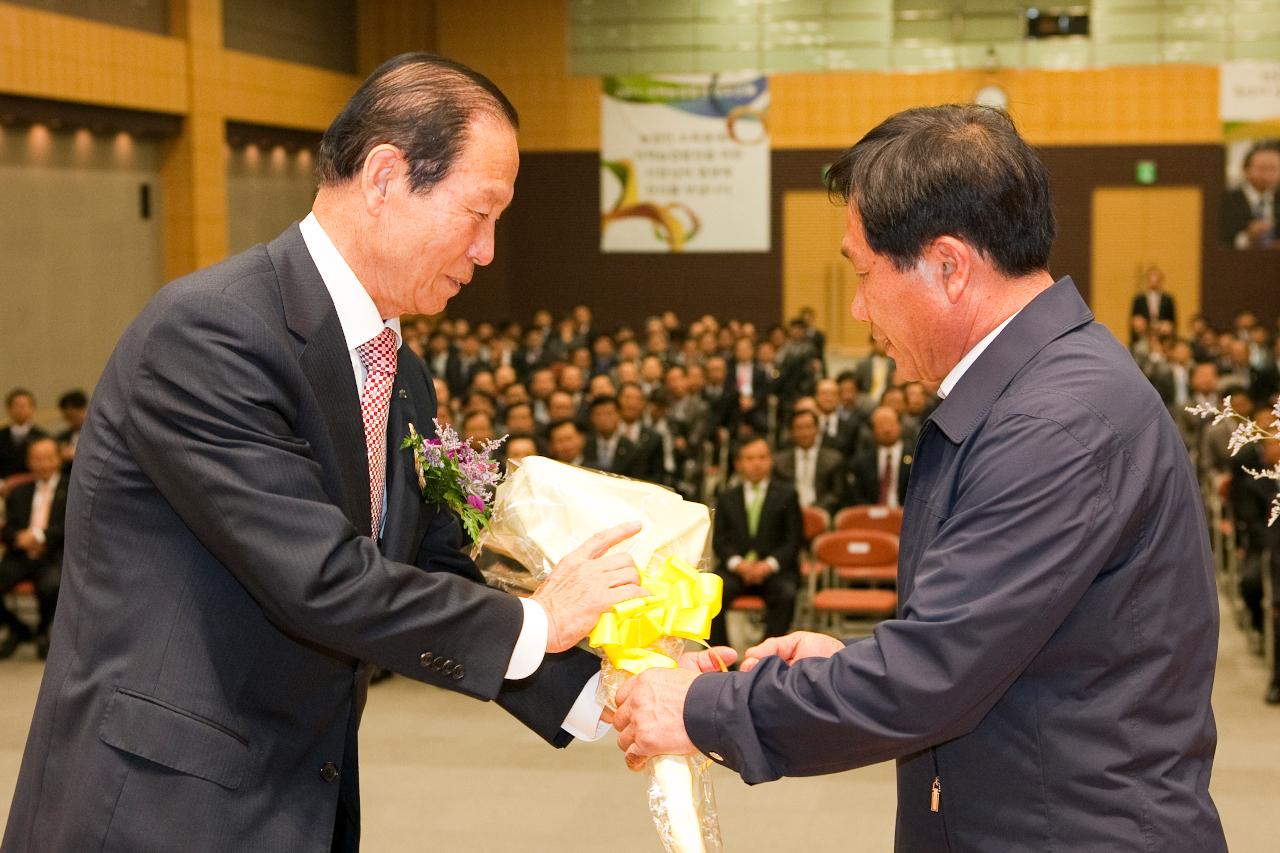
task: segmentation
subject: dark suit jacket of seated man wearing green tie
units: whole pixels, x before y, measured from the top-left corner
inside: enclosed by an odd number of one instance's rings
[[[742,485],[735,485],[721,494],[716,505],[716,523],[712,548],[719,571],[728,570],[730,557],[741,557],[754,551],[760,560],[773,557],[778,571],[799,574],[800,547],[804,544],[804,520],[800,516],[800,498],[796,491],[777,478],[769,480],[760,506],[760,524],[755,535],[746,523],[746,503]]]

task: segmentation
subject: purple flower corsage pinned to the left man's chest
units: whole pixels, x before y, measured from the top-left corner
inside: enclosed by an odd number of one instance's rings
[[[493,492],[502,479],[493,452],[502,447],[507,437],[488,441],[476,450],[458,438],[453,426],[433,419],[436,438],[424,438],[408,425],[408,435],[401,450],[413,450],[413,470],[422,500],[444,503],[458,514],[462,528],[475,542],[489,525]]]

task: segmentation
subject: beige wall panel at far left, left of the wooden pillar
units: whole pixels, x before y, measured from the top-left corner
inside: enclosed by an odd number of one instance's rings
[[[151,187],[151,218],[140,187]],[[92,389],[164,265],[160,151],[88,131],[0,131],[0,388]],[[3,393],[3,391],[0,391]]]

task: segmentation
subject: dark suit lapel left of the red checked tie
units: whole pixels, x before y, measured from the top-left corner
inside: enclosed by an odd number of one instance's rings
[[[311,383],[333,441],[347,517],[361,534],[370,535],[372,516],[365,421],[360,414],[360,391],[352,375],[351,353],[338,311],[297,224],[285,229],[266,250],[280,283],[285,323],[301,347],[298,362]]]

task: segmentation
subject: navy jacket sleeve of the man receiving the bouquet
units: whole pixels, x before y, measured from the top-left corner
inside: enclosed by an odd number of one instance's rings
[[[900,619],[831,658],[699,676],[689,735],[750,784],[838,772],[972,731],[1033,660],[1120,537],[1091,453],[1007,419],[975,447]]]

